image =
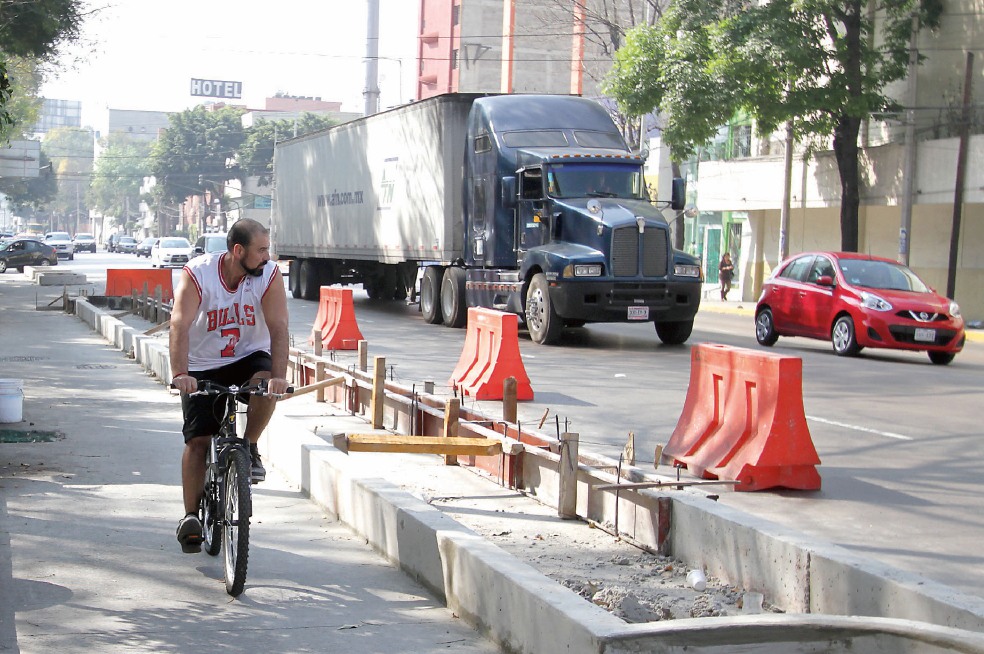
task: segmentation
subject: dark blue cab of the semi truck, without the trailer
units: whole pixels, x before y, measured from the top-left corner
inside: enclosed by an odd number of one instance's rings
[[[452,286],[442,289],[445,315],[466,306],[512,311],[546,344],[590,322],[652,322],[664,343],[686,341],[700,305],[700,264],[673,249],[643,164],[594,101],[476,99],[464,160],[464,260],[443,280]],[[672,204],[682,208],[682,197]]]

